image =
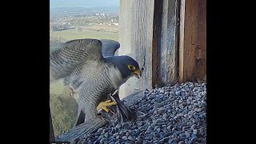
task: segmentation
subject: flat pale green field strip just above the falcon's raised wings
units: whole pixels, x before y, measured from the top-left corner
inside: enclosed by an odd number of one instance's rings
[[[53,37],[64,38],[66,40],[73,40],[77,38],[98,38],[98,39],[113,39],[118,40],[118,33],[110,33],[104,31],[94,31],[94,30],[61,30],[50,32]]]

